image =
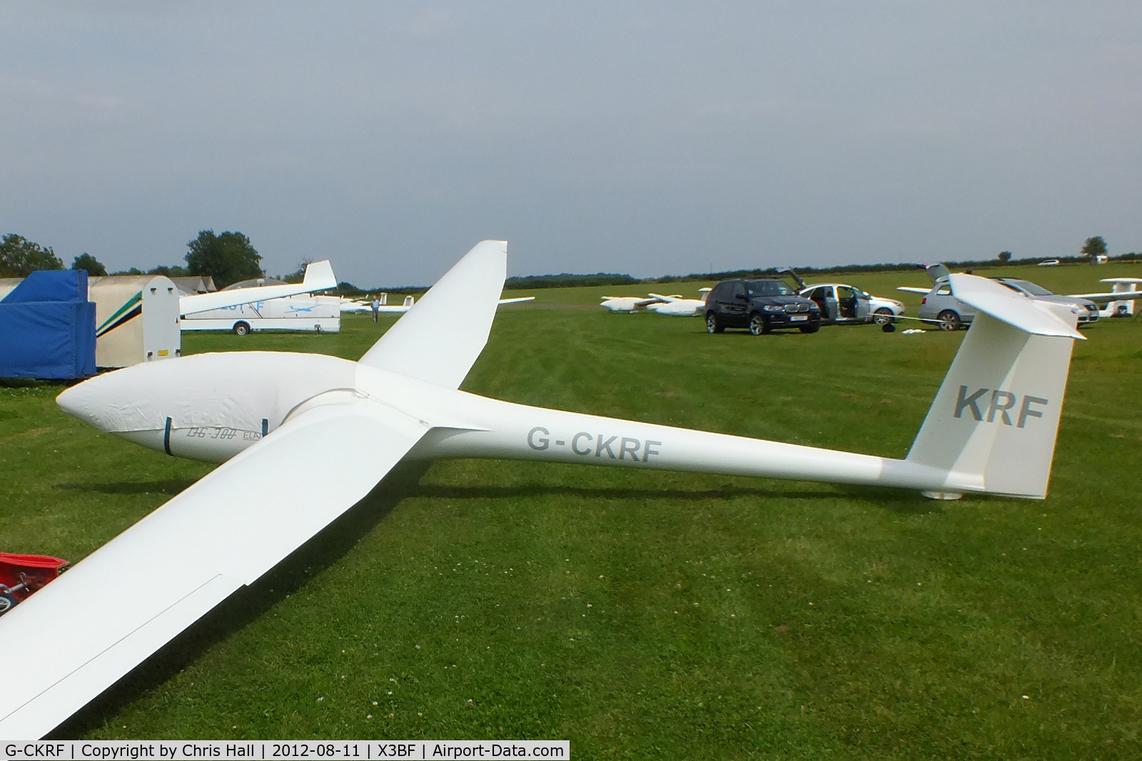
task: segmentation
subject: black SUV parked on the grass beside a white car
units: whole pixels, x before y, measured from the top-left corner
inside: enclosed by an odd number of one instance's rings
[[[779,280],[724,280],[706,297],[706,332],[726,327],[748,327],[754,335],[781,327],[815,333],[821,310]]]

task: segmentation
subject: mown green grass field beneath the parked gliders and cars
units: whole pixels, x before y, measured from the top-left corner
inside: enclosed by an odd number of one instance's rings
[[[1005,269],[1073,292],[1142,267]],[[890,296],[926,275],[837,280]],[[706,335],[698,319],[587,308],[603,292],[640,291],[538,291],[502,309],[464,388],[899,458],[964,335]],[[186,334],[184,349],[356,358],[388,324]],[[1085,334],[1045,501],[403,467],[57,734],[549,737],[578,759],[1139,758],[1142,319]],[[0,388],[0,549],[74,561],[209,467],[100,436],[58,391]],[[107,580],[107,615],[130,593]]]

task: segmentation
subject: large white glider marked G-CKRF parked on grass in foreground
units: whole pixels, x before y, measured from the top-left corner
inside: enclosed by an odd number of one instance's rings
[[[477,244],[356,363],[203,354],[61,394],[66,412],[99,430],[224,464],[0,617],[0,649],[18,654],[0,681],[0,738],[49,732],[345,512],[402,459],[593,463],[936,497],[1046,495],[1072,341],[1083,338],[1070,313],[952,275],[957,296],[979,315],[911,451],[892,460],[460,391],[488,340],[506,272],[506,243]],[[463,319],[458,302],[467,305]]]

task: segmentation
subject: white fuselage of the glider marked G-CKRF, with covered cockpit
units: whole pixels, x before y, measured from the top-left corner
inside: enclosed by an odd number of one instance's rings
[[[409,459],[496,458],[926,491],[981,488],[915,462],[514,404],[323,355],[224,353],[138,365],[69,389],[59,404],[152,450],[224,462],[297,411],[336,404],[346,394],[429,429]]]

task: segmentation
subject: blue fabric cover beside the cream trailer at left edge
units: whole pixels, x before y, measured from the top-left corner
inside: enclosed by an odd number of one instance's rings
[[[95,302],[87,273],[40,270],[0,300],[0,378],[95,374]]]

